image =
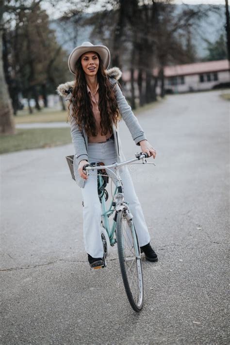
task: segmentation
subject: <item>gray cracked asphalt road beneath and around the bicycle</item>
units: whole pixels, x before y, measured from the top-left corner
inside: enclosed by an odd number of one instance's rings
[[[72,145],[1,155],[0,344],[229,344],[229,103],[168,96],[138,115],[155,163],[133,165],[158,263],[132,311],[116,248],[90,271]],[[124,123],[126,158],[138,150]],[[151,158],[152,160],[152,158]]]

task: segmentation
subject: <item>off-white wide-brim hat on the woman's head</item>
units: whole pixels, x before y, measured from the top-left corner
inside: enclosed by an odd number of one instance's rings
[[[80,58],[80,56],[87,51],[96,51],[100,55],[102,63],[107,69],[110,64],[110,51],[105,46],[94,46],[90,42],[83,42],[81,46],[74,48],[68,58],[68,66],[71,73],[75,74],[75,66],[76,62]]]

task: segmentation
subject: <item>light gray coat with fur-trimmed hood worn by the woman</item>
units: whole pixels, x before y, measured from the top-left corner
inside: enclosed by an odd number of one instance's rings
[[[116,71],[114,68],[111,68],[111,70]],[[119,71],[119,69],[118,69]],[[116,71],[116,72],[118,72]],[[115,90],[115,96],[116,96],[116,101],[117,105],[120,111],[120,114],[125,121],[129,131],[131,132],[132,139],[134,140],[136,145],[140,146],[140,141],[141,140],[147,140],[145,133],[140,126],[137,118],[133,114],[130,105],[128,104],[127,100],[123,96],[121,89],[117,83],[117,74],[113,73],[113,77],[111,78],[111,75],[109,74],[110,70],[107,71],[108,76],[110,77],[109,80],[112,85],[114,85],[114,90]],[[68,88],[72,83],[66,83],[66,84],[61,84],[58,87],[58,93],[61,95],[65,95],[65,93],[68,93],[68,96],[66,97],[66,100],[71,100],[72,99],[72,94],[71,92],[68,92],[66,90],[66,87]],[[72,117],[72,108],[73,104],[71,103],[70,105],[70,133],[72,137],[72,142],[74,146],[74,160],[73,160],[73,168],[74,168],[74,176],[76,183],[78,184],[79,187],[84,187],[85,180],[82,179],[82,177],[78,173],[78,164],[82,160],[87,160],[88,159],[88,137],[85,132],[84,126],[78,126],[76,124],[76,120],[74,117]],[[115,124],[113,123],[113,133],[114,133],[114,138],[115,138],[115,153],[116,153],[116,161],[117,163],[120,163],[125,160],[124,154],[122,152],[121,148],[121,141],[119,137],[119,121],[117,122],[117,128]]]

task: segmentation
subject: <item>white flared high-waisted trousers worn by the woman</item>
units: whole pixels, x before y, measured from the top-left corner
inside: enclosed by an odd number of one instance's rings
[[[88,161],[103,162],[105,165],[116,162],[115,142],[110,139],[104,143],[88,143]],[[114,170],[113,170],[114,171]],[[106,169],[111,176],[111,172]],[[136,229],[139,246],[145,246],[150,242],[148,227],[142,211],[142,207],[136,196],[131,176],[127,166],[119,168],[122,179],[124,197],[129,202],[133,223]],[[114,178],[112,179],[114,182]],[[108,192],[109,189],[107,188]],[[93,258],[103,257],[103,247],[100,237],[101,203],[98,196],[97,170],[89,171],[84,188],[81,188],[83,198],[83,237],[84,246],[88,254]]]

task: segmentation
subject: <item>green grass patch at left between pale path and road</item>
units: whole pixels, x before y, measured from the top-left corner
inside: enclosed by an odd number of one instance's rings
[[[31,148],[48,148],[71,142],[68,127],[17,129],[16,134],[0,135],[0,154]]]

